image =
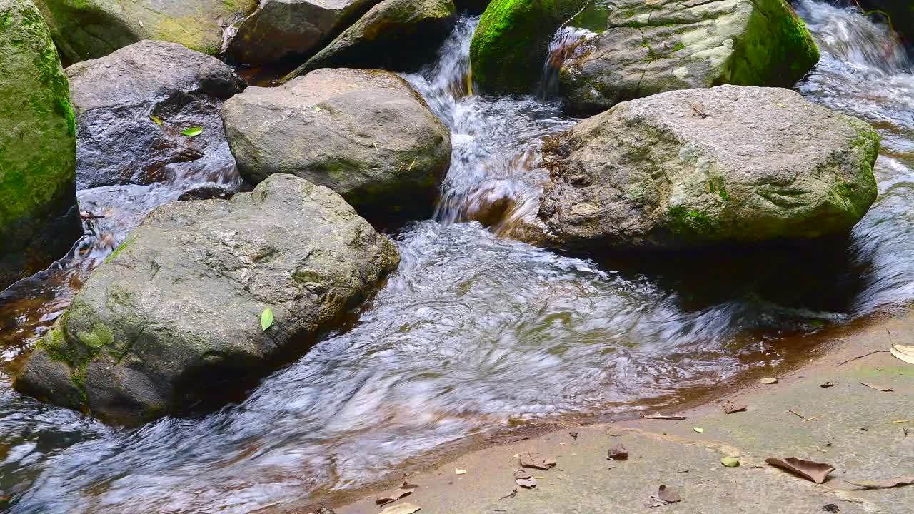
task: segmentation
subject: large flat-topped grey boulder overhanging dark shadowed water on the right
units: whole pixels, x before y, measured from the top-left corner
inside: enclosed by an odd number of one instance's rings
[[[849,230],[876,199],[879,138],[779,88],[623,102],[547,141],[552,244],[687,249]]]

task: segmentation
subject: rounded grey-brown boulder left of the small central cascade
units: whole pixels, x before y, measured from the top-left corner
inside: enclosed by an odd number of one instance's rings
[[[330,187],[365,216],[430,211],[451,133],[409,84],[383,70],[315,70],[250,87],[222,108],[241,175],[291,173]]]

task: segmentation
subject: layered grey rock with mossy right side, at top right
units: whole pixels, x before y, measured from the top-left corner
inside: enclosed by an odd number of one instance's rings
[[[819,60],[784,0],[620,0],[605,30],[559,71],[576,112],[717,84],[792,87]]]

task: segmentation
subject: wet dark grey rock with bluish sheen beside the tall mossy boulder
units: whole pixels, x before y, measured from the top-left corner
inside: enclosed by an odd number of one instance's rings
[[[67,69],[80,188],[237,177],[219,110],[243,81],[218,59],[141,41]],[[199,127],[201,134],[182,132]]]

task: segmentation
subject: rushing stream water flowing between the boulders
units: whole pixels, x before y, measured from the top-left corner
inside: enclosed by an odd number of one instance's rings
[[[80,191],[82,209],[107,217],[68,258],[0,294],[5,509],[245,513],[300,501],[473,436],[675,405],[808,352],[817,332],[914,298],[911,63],[858,11],[795,6],[823,52],[799,91],[885,138],[880,196],[848,240],[624,262],[504,237],[536,212],[546,177],[539,138],[576,120],[558,103],[469,95],[478,18],[463,16],[440,58],[405,76],[453,133],[435,218],[391,234],[402,263],[352,327],[218,412],[123,430],[9,389],[23,352],[91,270],[186,187]]]

